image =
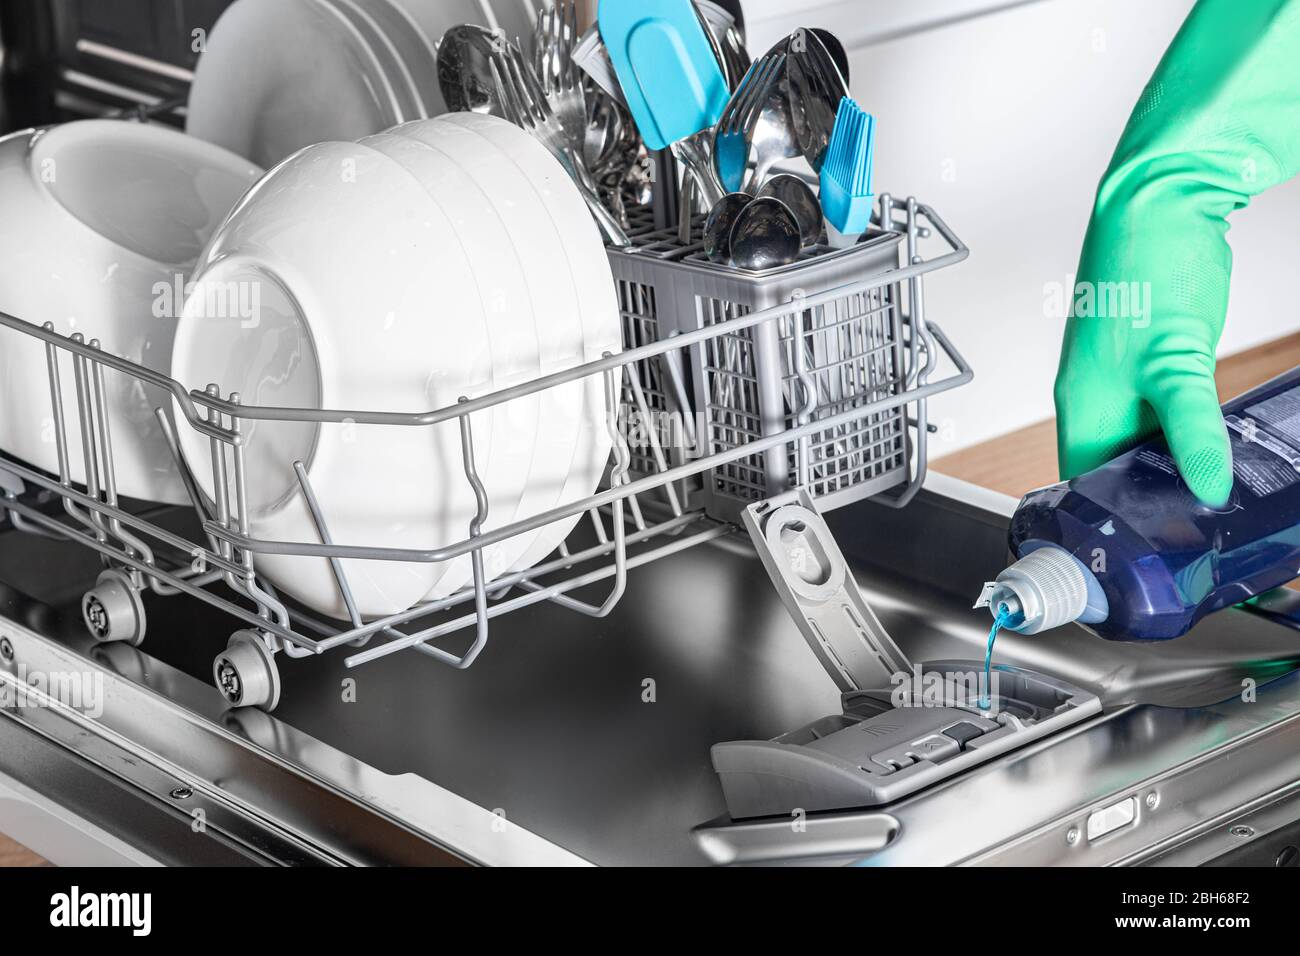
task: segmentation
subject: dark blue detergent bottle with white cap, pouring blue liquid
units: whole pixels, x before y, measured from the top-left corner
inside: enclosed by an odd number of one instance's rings
[[[1154,438],[1024,496],[1018,561],[976,606],[1020,633],[1075,620],[1112,640],[1170,640],[1300,576],[1300,368],[1225,405],[1223,420],[1227,505],[1199,502]]]

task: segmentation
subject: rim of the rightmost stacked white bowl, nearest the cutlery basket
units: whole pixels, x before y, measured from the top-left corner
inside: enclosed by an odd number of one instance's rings
[[[592,215],[559,164],[536,140],[516,142],[517,138],[510,133],[508,124],[503,125],[494,117],[450,113],[445,120],[508,150],[519,161],[526,181],[545,203],[555,228],[568,237],[566,251],[578,294],[577,315],[582,323],[584,341],[582,355],[569,364],[594,362],[604,352],[620,352],[623,332],[608,256]],[[606,425],[603,380],[599,376],[584,378],[581,388],[584,398],[580,424],[575,432],[576,447],[567,472],[568,479],[554,505],[572,503],[595,492],[610,457],[611,438]],[[621,401],[621,395],[616,395],[616,401]],[[515,570],[532,567],[542,561],[559,546],[580,519],[581,515],[576,515],[543,528],[533,546],[516,563]]]

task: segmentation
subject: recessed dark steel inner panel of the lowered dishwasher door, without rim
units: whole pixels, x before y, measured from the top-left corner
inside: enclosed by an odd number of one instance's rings
[[[859,503],[828,516],[914,661],[983,654],[988,615],[970,604],[1005,564],[1010,503],[983,497],[992,510],[927,490],[901,511]],[[593,862],[705,862],[690,830],[724,812],[710,747],[838,710],[744,535],[725,541],[637,568],[603,620],[554,605],[499,618],[465,671],[410,654],[356,670],[332,654],[283,661],[280,708],[250,715],[250,726],[263,747],[268,726],[289,726],[384,773],[416,774]],[[6,531],[0,614],[84,648],[78,602],[98,570],[90,551]],[[188,598],[146,600],[143,646],[96,658],[138,669],[140,680],[157,658],[207,683],[233,624]],[[1108,643],[1076,627],[1010,633],[994,661],[1062,676],[1108,710],[1187,708],[1238,693],[1245,676],[1262,683],[1295,667],[1300,640],[1230,610],[1162,645]],[[238,715],[229,724],[239,727]]]

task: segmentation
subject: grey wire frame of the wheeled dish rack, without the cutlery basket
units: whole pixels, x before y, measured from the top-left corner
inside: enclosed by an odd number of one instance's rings
[[[629,570],[731,535],[734,524],[718,520],[716,509],[694,498],[701,479],[706,485],[719,480],[732,481],[732,470],[750,467],[748,463],[755,460],[775,462],[774,473],[781,476],[783,483],[794,480],[809,485],[815,494],[826,494],[829,501],[845,488],[840,488],[840,479],[832,479],[823,467],[828,459],[818,451],[819,445],[831,441],[833,446],[833,442],[845,442],[853,436],[875,434],[885,427],[885,421],[890,423],[892,442],[897,440],[898,429],[906,429],[910,421],[916,432],[911,472],[901,475],[896,466],[889,468],[890,484],[902,481],[905,485],[892,503],[902,505],[910,499],[924,480],[926,401],[971,378],[971,369],[961,354],[924,317],[922,277],[963,260],[968,251],[932,209],[913,199],[900,202],[883,195],[879,208],[878,232],[892,243],[890,248],[898,242],[906,243],[905,263],[894,261],[889,268],[866,276],[861,274],[861,268],[849,268],[838,273],[844,281],[833,287],[812,293],[794,289],[785,302],[719,313],[696,328],[673,321],[668,329],[671,334],[660,336],[659,329],[644,329],[642,334],[629,334],[625,350],[619,354],[607,354],[572,369],[433,411],[404,414],[242,405],[238,395],[224,395],[216,386],[186,390],[176,380],[121,359],[81,334],[65,337],[53,332],[51,325],[32,325],[0,312],[0,326],[39,339],[44,346],[58,462],[58,473],[47,475],[17,460],[0,458],[0,516],[8,514],[21,531],[72,541],[100,555],[104,571],[82,605],[87,627],[100,640],[143,640],[146,622],[140,594],[144,591],[161,596],[188,594],[229,614],[240,630],[231,635],[226,650],[217,656],[213,678],[237,706],[274,708],[280,696],[278,653],[307,657],[347,646],[351,653],[346,663],[358,666],[413,649],[452,667],[468,667],[486,646],[494,618],[542,601],[604,617],[623,596]],[[918,242],[932,234],[944,242],[945,251],[927,259],[918,252]],[[867,245],[863,243],[863,247]],[[814,264],[818,259],[816,254],[811,256]],[[842,261],[841,258],[841,265]],[[892,369],[889,375],[881,376],[871,388],[848,394],[842,390],[828,392],[823,384],[829,386],[836,376],[827,377],[822,372],[835,367],[835,356],[829,364],[819,362],[818,350],[827,347],[827,339],[818,332],[829,328],[826,323],[833,321],[837,303],[854,299],[876,302],[880,295],[897,297],[900,289],[910,290],[910,308],[905,310],[897,298],[890,299],[889,334],[893,338],[887,347],[892,356],[887,363]],[[859,312],[868,313],[879,315],[880,310]],[[832,316],[832,320],[826,316]],[[810,326],[810,321],[820,324]],[[876,339],[883,342],[884,332]],[[624,432],[624,408],[649,419],[651,401],[671,401],[690,407],[696,401],[692,392],[697,398],[707,397],[712,386],[702,378],[705,365],[701,356],[734,355],[733,341],[784,342],[775,352],[779,360],[764,359],[755,364],[728,359],[718,368],[731,375],[750,376],[751,384],[766,389],[770,395],[785,395],[793,412],[774,415],[779,420],[766,429],[734,428],[725,441],[708,444],[696,457],[664,449],[655,429],[640,432],[638,440],[629,444]],[[806,347],[797,347],[800,342]],[[930,381],[940,352],[948,356],[953,373]],[[854,352],[853,362],[861,365],[863,355],[866,352],[861,350]],[[812,364],[807,362],[810,356]],[[64,412],[69,385],[61,369],[69,363],[75,394],[74,421],[69,421]],[[688,381],[692,372],[696,378],[693,388]],[[108,427],[105,373],[130,376],[143,386],[162,390],[174,401],[179,415],[169,415],[162,408],[156,410],[156,415],[188,489],[198,519],[192,524],[198,531],[187,533],[164,527],[164,523],[136,514],[120,499]],[[603,384],[604,424],[612,442],[602,488],[578,501],[486,531],[491,502],[478,475],[471,415],[588,377],[598,377]],[[881,386],[885,378],[887,388]],[[915,408],[911,416],[905,411],[909,406]],[[294,471],[315,524],[316,540],[252,537],[242,440],[242,432],[251,421],[346,421],[355,428],[433,428],[455,421],[459,425],[464,477],[476,496],[477,514],[463,540],[436,549],[335,541],[330,535],[329,515],[321,509],[307,468],[295,462]],[[195,429],[209,440],[216,492],[211,501],[199,490],[179,453],[177,428]],[[868,444],[861,447],[868,449]],[[84,485],[74,484],[72,479],[73,454],[81,455]],[[855,460],[861,464],[872,457],[879,458],[868,449]],[[867,481],[863,475],[846,475],[842,484],[861,488]],[[766,490],[770,489],[750,483],[741,498],[762,496]],[[36,494],[29,492],[56,496],[61,502],[61,514],[48,514],[35,501]],[[590,528],[572,533],[543,563],[495,579],[485,574],[485,548],[584,512],[590,518]],[[259,575],[259,555],[266,554],[326,558],[348,619],[325,620],[281,600]],[[343,567],[344,561],[428,563],[463,555],[471,557],[472,585],[442,600],[373,620],[364,620],[358,613]],[[608,591],[601,600],[585,601],[575,594],[602,583],[607,583]],[[448,649],[445,639],[452,635],[460,635],[460,644],[468,641],[468,645],[462,650]]]

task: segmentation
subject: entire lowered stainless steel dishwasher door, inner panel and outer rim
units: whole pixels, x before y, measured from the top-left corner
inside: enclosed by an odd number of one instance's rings
[[[827,524],[901,654],[966,661],[987,640],[968,597],[1005,563],[1013,507],[931,476],[902,511],[862,502]],[[464,671],[294,661],[274,715],[228,709],[208,683],[229,627],[196,601],[146,596],[140,648],[92,644],[79,600],[99,570],[86,549],[0,535],[0,727],[25,740],[3,773],[65,832],[94,825],[142,858],[1205,862],[1266,856],[1300,819],[1300,641],[1244,610],[1160,646],[1005,635],[998,665],[1101,711],[879,805],[734,821],[711,747],[842,713],[744,535],[633,570],[604,619],[550,602],[504,615]],[[101,682],[99,713],[23,702],[18,684],[58,674]],[[25,819],[4,826],[78,860]]]

